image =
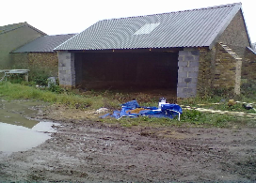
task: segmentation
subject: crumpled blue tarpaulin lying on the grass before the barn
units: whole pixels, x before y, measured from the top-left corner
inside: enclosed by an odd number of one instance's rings
[[[161,109],[158,109],[157,107],[140,107],[136,100],[132,100],[123,103],[120,111],[114,111],[113,114],[104,114],[102,118],[106,116],[112,116],[117,119],[137,116],[173,118],[178,115],[180,120],[180,114],[182,113],[183,110],[178,104],[165,103],[161,105]]]

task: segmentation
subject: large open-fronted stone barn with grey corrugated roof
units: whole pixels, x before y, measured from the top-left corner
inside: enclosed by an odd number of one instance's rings
[[[100,21],[55,50],[64,87],[163,89],[191,98],[213,89],[239,94],[241,78],[256,79],[250,48],[235,3]]]

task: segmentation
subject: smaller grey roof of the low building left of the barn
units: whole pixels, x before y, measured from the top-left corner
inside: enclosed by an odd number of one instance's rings
[[[45,53],[54,52],[54,48],[64,41],[72,38],[75,34],[44,36],[25,44],[12,53]]]

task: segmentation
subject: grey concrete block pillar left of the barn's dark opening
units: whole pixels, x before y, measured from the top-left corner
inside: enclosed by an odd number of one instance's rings
[[[62,87],[75,87],[74,55],[58,52],[58,80]]]

